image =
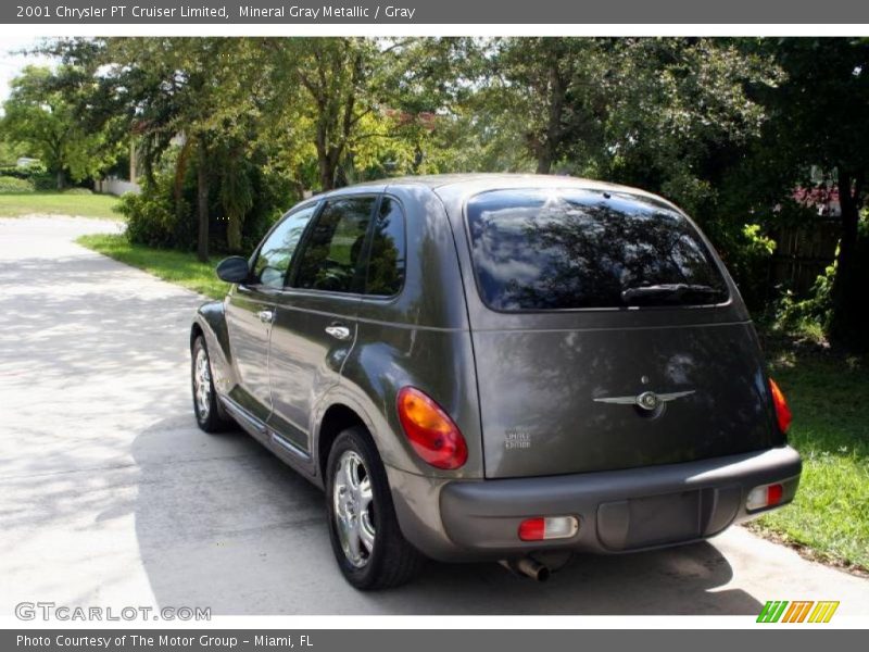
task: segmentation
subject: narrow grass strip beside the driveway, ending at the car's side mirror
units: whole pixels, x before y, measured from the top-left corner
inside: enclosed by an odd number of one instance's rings
[[[214,263],[200,263],[196,254],[130,244],[123,234],[81,236],[79,244],[213,299],[229,289],[214,273]]]

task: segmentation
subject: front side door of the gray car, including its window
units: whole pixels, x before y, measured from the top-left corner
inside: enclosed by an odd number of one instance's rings
[[[268,340],[275,302],[293,252],[318,204],[288,213],[266,236],[254,258],[251,279],[238,284],[226,304],[229,347],[238,385],[229,397],[265,423],[272,412],[268,387]]]

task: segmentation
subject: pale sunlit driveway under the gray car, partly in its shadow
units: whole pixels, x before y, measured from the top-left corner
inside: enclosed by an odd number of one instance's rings
[[[0,616],[22,601],[214,614],[757,614],[869,580],[733,528],[709,543],[580,557],[537,585],[432,564],[366,594],[331,557],[323,496],[240,432],[193,421],[197,294],[73,242],[113,223],[0,220]]]

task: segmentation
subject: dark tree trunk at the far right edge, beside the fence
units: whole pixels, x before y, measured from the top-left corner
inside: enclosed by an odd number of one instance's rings
[[[862,349],[866,348],[869,318],[865,290],[867,279],[861,278],[857,240],[865,177],[864,174],[854,175],[840,167],[837,180],[839,203],[842,209],[842,237],[832,288],[833,314],[830,336],[848,348]]]

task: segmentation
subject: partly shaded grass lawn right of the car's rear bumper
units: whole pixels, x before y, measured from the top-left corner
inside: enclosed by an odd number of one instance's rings
[[[803,455],[794,503],[750,527],[809,556],[869,570],[869,367],[827,354],[770,355]]]

